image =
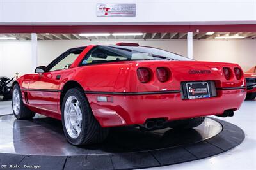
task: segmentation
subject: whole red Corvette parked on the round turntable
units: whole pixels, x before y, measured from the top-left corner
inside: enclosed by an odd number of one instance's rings
[[[73,145],[103,141],[108,127],[192,128],[205,116],[233,116],[246,96],[237,64],[199,62],[136,43],[64,52],[15,81],[13,113],[62,120]]]

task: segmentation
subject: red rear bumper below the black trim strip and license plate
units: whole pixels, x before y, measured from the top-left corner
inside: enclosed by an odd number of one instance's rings
[[[166,94],[86,94],[93,115],[102,127],[143,124],[149,118],[179,120],[222,114],[237,110],[246,89],[218,90],[217,97],[183,100],[180,92]],[[98,102],[97,96],[113,97],[113,102]]]

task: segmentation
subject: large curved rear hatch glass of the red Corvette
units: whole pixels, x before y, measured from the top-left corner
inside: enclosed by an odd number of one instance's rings
[[[83,60],[82,64],[125,60],[192,60],[176,53],[147,46],[99,45]]]

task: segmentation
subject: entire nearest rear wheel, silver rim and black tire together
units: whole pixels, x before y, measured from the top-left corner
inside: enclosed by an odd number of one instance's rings
[[[83,90],[68,90],[61,110],[63,130],[72,145],[100,143],[108,136],[109,129],[97,122]]]

